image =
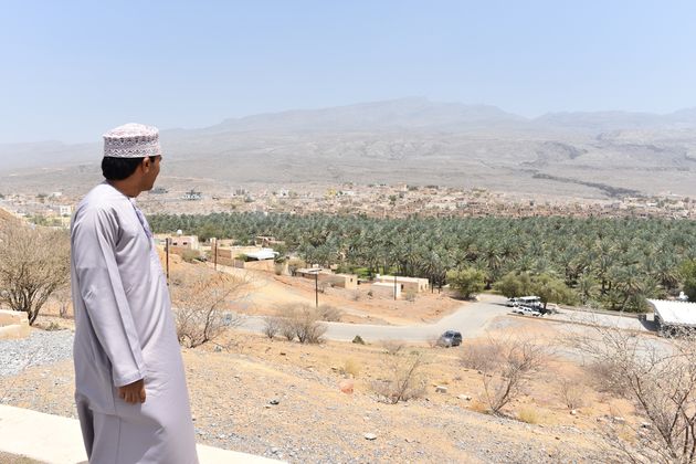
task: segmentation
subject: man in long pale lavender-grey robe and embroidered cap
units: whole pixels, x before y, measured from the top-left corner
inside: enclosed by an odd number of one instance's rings
[[[104,135],[106,181],[71,228],[75,401],[89,462],[198,462],[181,351],[152,234],[135,198],[150,190],[155,127]]]

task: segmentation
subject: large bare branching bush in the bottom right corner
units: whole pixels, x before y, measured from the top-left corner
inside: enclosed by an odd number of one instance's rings
[[[634,463],[696,462],[696,336],[669,341],[616,327],[592,327],[573,345],[603,369],[602,382],[631,400],[645,423],[608,423],[607,442]],[[595,371],[598,372],[598,371]]]

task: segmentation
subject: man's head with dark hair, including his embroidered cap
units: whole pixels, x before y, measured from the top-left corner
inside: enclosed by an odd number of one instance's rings
[[[152,188],[160,160],[156,127],[126,124],[104,134],[102,173],[110,182],[128,183],[134,193]]]

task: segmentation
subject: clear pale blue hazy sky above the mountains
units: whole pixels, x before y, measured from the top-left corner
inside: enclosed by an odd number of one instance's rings
[[[696,106],[694,1],[0,0],[0,143],[425,96]]]

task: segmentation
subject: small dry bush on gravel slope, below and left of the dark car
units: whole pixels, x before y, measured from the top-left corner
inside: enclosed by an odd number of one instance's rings
[[[396,404],[423,396],[428,382],[423,373],[426,359],[422,352],[387,355],[384,365],[386,378],[372,382],[372,390],[380,401]]]

